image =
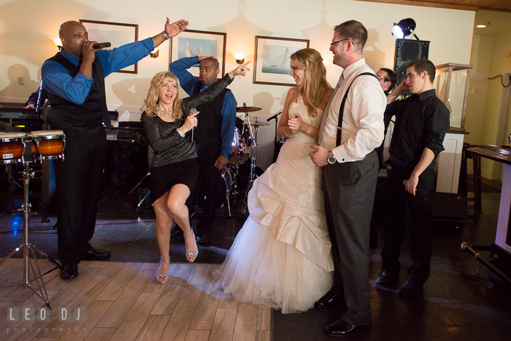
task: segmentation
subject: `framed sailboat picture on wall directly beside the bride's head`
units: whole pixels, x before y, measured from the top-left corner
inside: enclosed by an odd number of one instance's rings
[[[296,86],[290,56],[309,47],[309,40],[255,36],[254,84]]]

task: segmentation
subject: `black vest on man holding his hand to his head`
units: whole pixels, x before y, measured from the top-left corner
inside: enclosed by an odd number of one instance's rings
[[[192,96],[199,94],[202,82],[198,82],[192,91]],[[199,147],[221,147],[221,108],[224,106],[224,96],[229,89],[224,89],[212,101],[201,104],[197,111],[197,128],[195,128],[194,140],[199,142]]]

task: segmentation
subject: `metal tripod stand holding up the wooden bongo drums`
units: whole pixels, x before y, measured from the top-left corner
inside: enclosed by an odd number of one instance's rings
[[[43,298],[45,300],[45,304],[48,308],[50,307],[50,301],[48,298],[48,291],[46,291],[46,286],[43,280],[43,276],[45,274],[49,274],[55,269],[62,269],[62,266],[55,261],[52,257],[46,255],[45,252],[35,247],[35,245],[32,245],[28,241],[28,225],[29,220],[31,216],[31,203],[28,201],[28,184],[30,183],[30,179],[32,176],[32,173],[30,172],[29,164],[33,161],[32,156],[32,141],[30,138],[26,138],[24,141],[25,144],[25,154],[23,155],[23,164],[25,166],[25,172],[23,173],[23,205],[21,206],[23,210],[23,244],[18,245],[16,249],[13,250],[7,257],[2,259],[0,261],[0,264],[4,263],[7,259],[11,258],[16,252],[23,249],[23,281],[21,283],[23,289],[31,289],[35,294],[37,294],[40,298]],[[43,256],[43,258],[48,259],[51,263],[55,265],[55,268],[49,270],[48,272],[45,272],[44,274],[41,274],[39,264],[37,262],[37,255],[35,254],[37,252],[40,256]],[[35,262],[35,268],[33,266],[33,263],[31,262],[31,257],[33,257]],[[34,278],[30,279],[30,269],[32,269],[32,272],[34,274]],[[31,282],[36,281],[39,287],[40,292],[33,289],[31,286]],[[40,281],[39,281],[40,280]],[[44,295],[44,296],[43,296]]]

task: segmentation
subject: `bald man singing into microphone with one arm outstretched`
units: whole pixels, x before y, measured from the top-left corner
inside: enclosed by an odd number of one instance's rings
[[[110,252],[89,244],[94,235],[101,179],[106,163],[106,133],[110,125],[104,77],[133,65],[156,46],[182,30],[185,20],[170,23],[153,38],[99,50],[77,21],[62,23],[62,50],[41,69],[44,89],[52,102],[47,120],[63,130],[65,160],[55,162],[58,200],[58,257],[62,279],[78,276],[82,259],[106,259]]]

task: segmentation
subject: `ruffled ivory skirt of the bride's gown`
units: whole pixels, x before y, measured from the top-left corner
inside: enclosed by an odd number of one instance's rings
[[[309,141],[288,139],[277,162],[254,181],[250,216],[215,273],[216,285],[239,302],[300,313],[331,289],[321,171],[310,151]]]

